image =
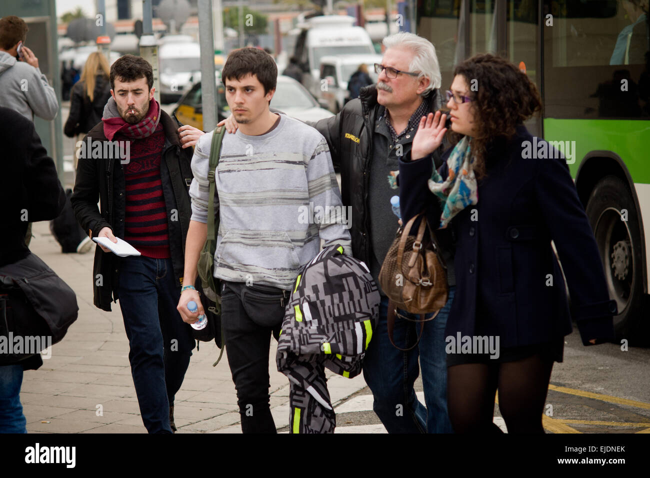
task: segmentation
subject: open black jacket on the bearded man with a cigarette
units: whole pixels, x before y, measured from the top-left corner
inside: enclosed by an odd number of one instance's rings
[[[185,237],[192,215],[189,196],[193,177],[190,168],[192,148],[181,148],[177,132],[180,125],[162,109],[160,122],[165,135],[161,161],[162,194],[167,209],[174,276],[180,285],[185,262]],[[90,130],[84,141],[88,136],[93,141],[105,141],[103,123]],[[101,211],[97,207],[98,198]],[[70,201],[79,224],[90,237],[97,237],[105,227],[111,228],[116,237],[124,237],[125,179],[120,159],[79,158],[75,190]],[[110,310],[110,302],[118,299],[118,259],[118,256],[103,252],[100,247],[95,250],[92,274],[94,304],[103,310]]]

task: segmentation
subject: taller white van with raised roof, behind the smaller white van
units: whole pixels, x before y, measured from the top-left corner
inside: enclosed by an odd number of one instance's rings
[[[305,74],[302,84],[315,97],[320,97],[320,59],[329,55],[374,55],[370,35],[362,27],[354,27],[356,19],[346,15],[324,15],[309,18],[296,39],[294,57]]]

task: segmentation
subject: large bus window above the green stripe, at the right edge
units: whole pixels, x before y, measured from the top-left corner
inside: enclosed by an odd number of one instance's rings
[[[647,2],[545,0],[545,116],[650,116]]]

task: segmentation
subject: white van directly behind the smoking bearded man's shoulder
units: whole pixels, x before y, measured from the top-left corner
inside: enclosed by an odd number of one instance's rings
[[[191,38],[190,38],[191,39]],[[201,71],[201,48],[194,42],[166,41],[158,48],[161,103],[178,101]]]

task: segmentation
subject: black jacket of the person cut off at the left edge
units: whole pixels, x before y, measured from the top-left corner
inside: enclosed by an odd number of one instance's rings
[[[27,257],[27,225],[55,219],[66,204],[66,193],[34,123],[25,116],[0,107],[0,144],[1,266]]]

